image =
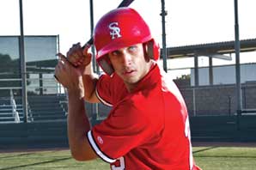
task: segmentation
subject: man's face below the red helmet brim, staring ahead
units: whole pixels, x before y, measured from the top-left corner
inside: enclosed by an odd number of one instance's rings
[[[150,64],[144,58],[143,44],[121,48],[108,56],[113,69],[126,85],[137,83],[149,72]]]

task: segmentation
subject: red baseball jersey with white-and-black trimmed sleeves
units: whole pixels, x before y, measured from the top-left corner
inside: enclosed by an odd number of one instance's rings
[[[118,76],[109,80],[100,79],[97,93],[113,109],[88,131],[95,153],[112,169],[197,169],[185,102],[158,65],[131,93]]]

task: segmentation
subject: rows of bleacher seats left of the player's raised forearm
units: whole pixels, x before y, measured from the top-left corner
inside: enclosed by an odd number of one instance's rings
[[[27,121],[61,121],[66,119],[67,103],[65,96],[34,95],[27,97]],[[20,98],[0,99],[0,124],[24,121]]]

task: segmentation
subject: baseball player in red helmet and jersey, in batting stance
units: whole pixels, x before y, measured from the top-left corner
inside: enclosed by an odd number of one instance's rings
[[[159,46],[149,26],[131,8],[113,9],[94,28],[96,60],[79,44],[59,54],[55,75],[68,91],[68,137],[78,161],[100,157],[111,169],[197,170],[192,157],[186,104],[156,63]],[[91,127],[83,100],[113,106]]]

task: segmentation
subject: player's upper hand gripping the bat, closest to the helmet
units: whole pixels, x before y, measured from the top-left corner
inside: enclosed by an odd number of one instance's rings
[[[83,50],[80,43],[74,44],[69,52],[67,58],[75,67],[87,66],[91,62],[92,54],[88,52],[90,46],[86,46]]]

